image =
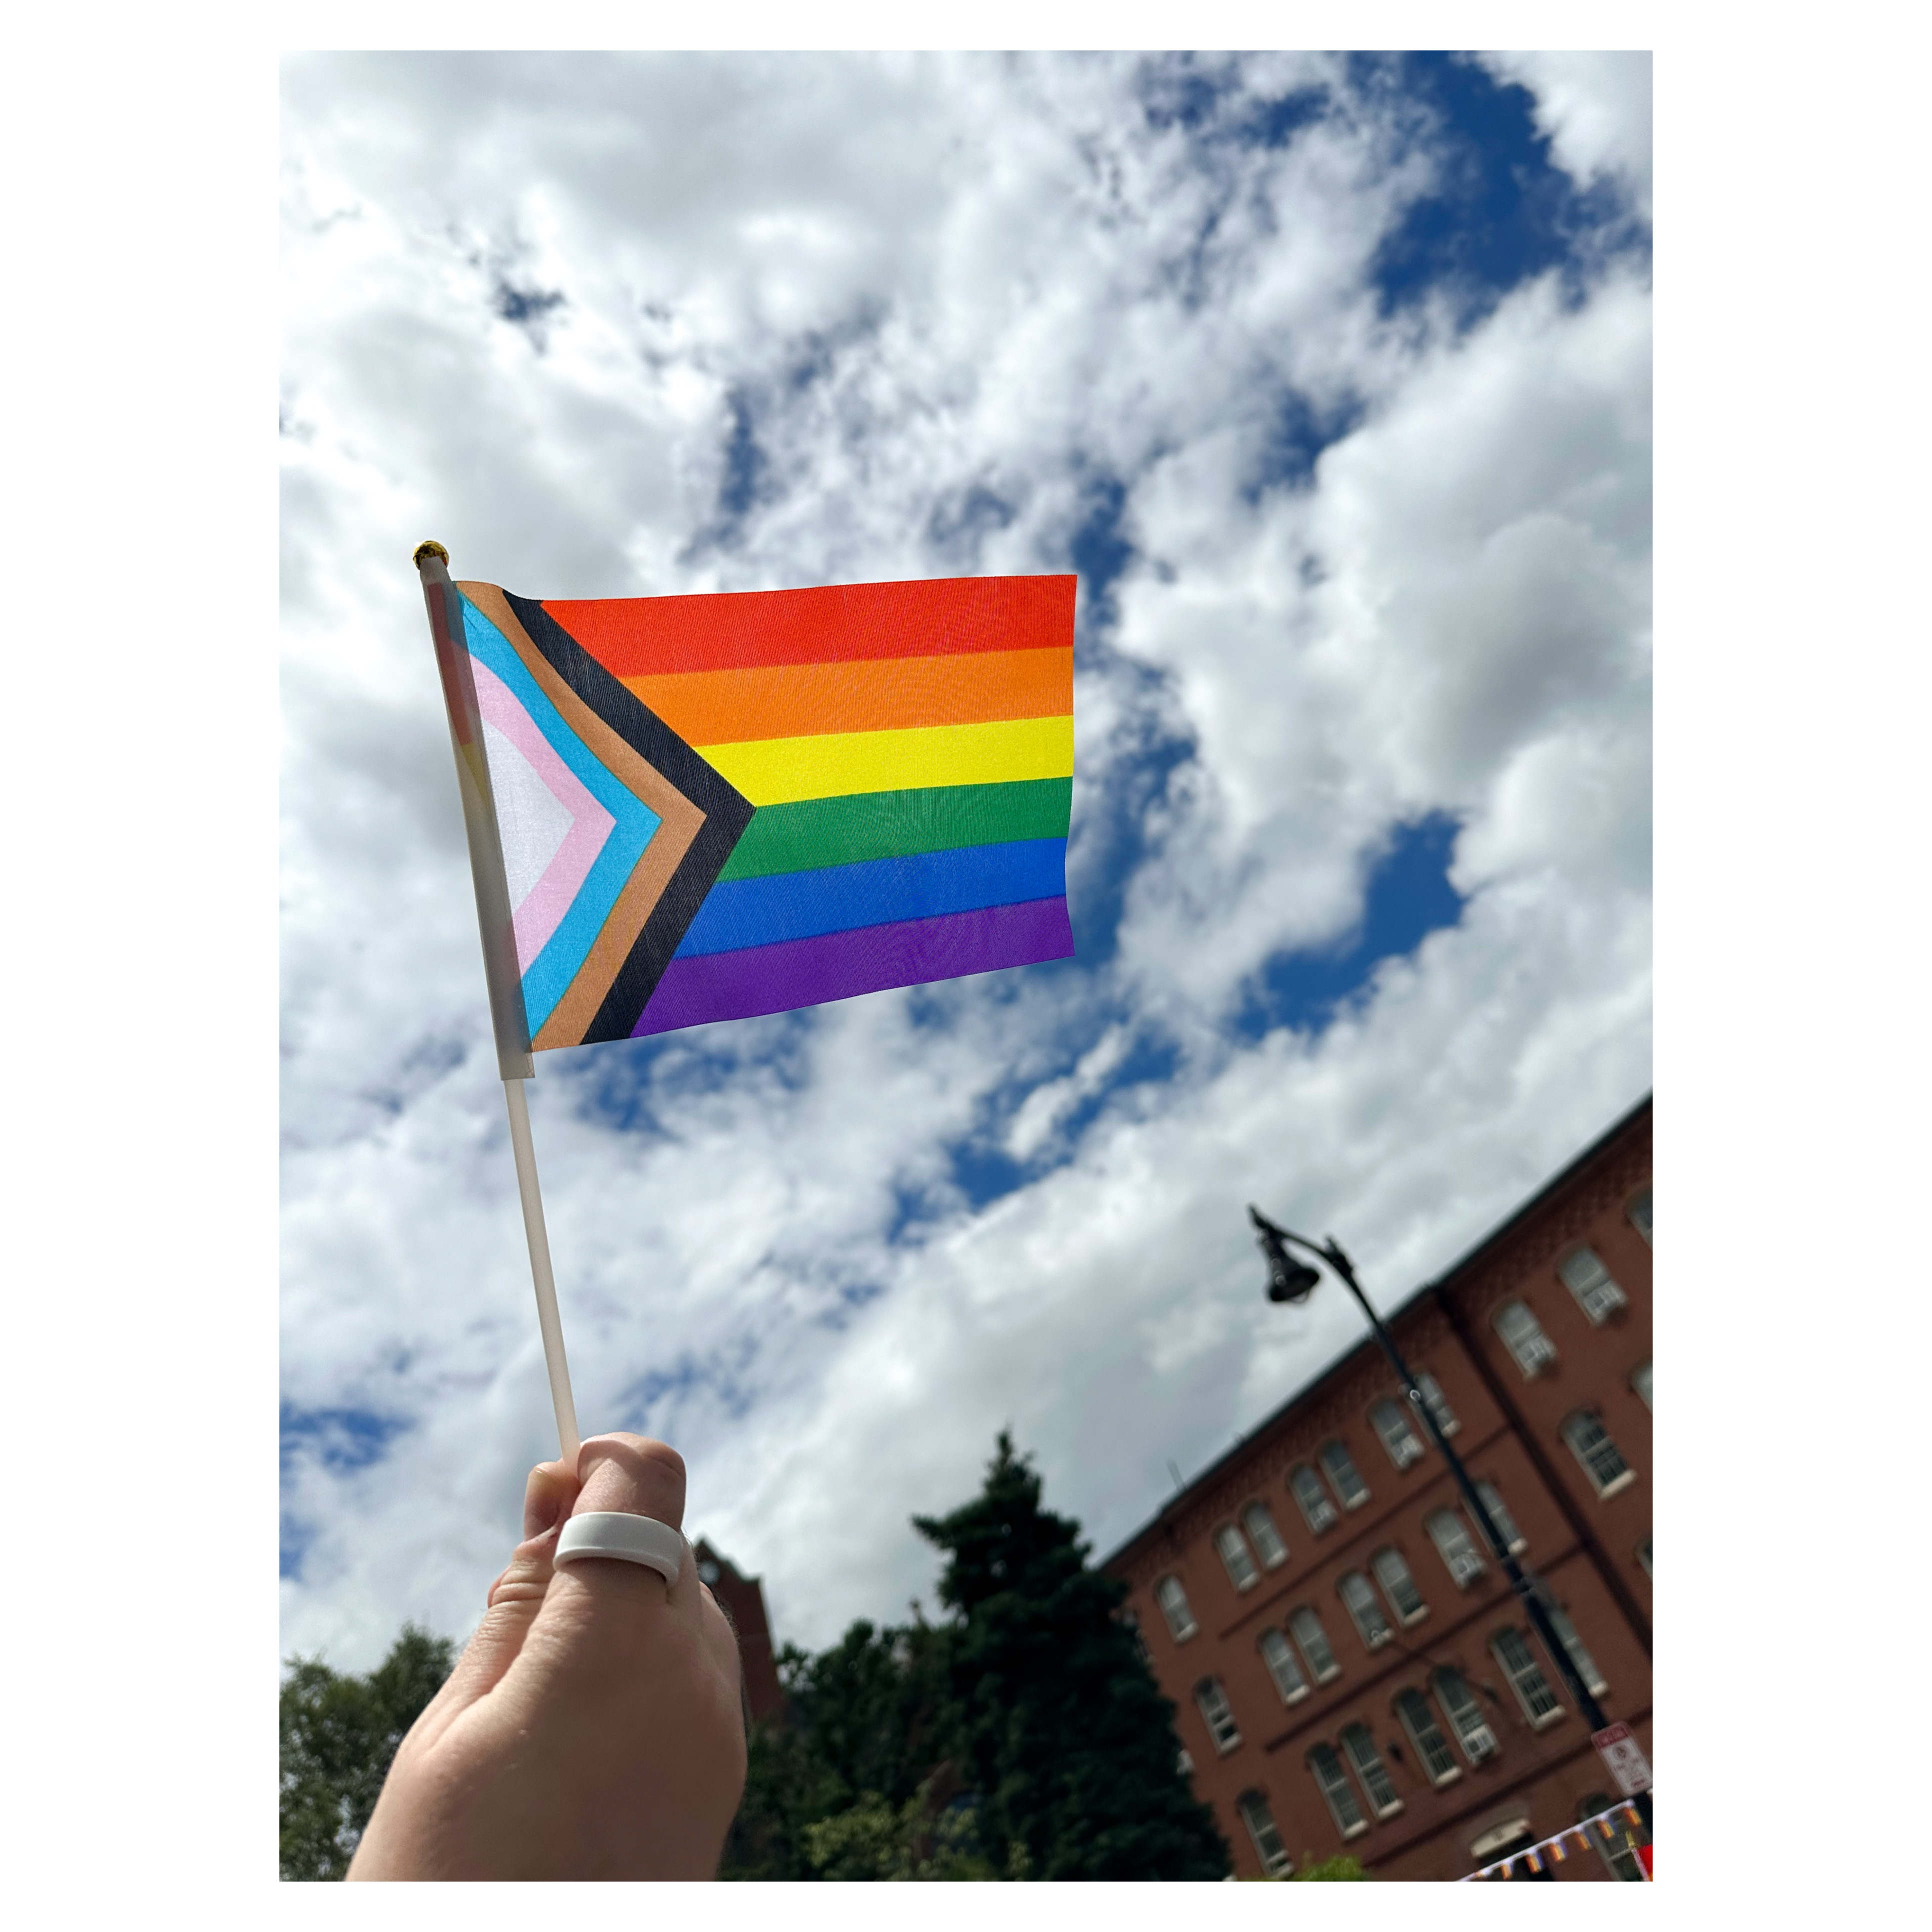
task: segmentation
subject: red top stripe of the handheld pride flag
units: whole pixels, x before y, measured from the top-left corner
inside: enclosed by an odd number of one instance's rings
[[[558,597],[543,609],[618,678],[750,665],[1065,647],[1076,578],[937,578],[711,597]]]

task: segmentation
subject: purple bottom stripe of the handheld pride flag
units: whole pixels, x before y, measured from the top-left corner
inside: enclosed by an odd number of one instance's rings
[[[1072,958],[1074,933],[1065,898],[947,912],[933,920],[862,925],[775,947],[742,947],[674,958],[657,981],[632,1039],[707,1020],[750,1020],[827,999],[879,993],[889,985],[956,980],[1001,966]]]

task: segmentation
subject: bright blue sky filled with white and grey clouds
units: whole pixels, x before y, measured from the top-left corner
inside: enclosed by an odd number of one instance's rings
[[[1650,1084],[1650,64],[284,66],[282,1642],[554,1453],[419,537],[620,597],[1080,574],[1078,958],[545,1055],[587,1430],[781,1636],[995,1432],[1105,1551]]]

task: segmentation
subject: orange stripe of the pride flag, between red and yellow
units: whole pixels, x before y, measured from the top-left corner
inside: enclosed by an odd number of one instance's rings
[[[1074,653],[976,651],[624,678],[686,744],[993,724],[1072,711]]]

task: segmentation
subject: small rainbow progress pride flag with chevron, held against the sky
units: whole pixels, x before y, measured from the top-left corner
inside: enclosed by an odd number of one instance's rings
[[[500,1051],[1072,954],[1074,578],[442,583]]]

